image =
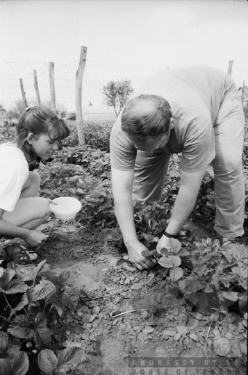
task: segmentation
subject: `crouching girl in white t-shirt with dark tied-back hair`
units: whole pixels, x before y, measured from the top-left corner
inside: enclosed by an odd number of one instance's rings
[[[22,238],[31,247],[47,240],[35,228],[49,217],[51,200],[37,197],[35,169],[67,135],[69,128],[50,108],[32,106],[19,117],[17,143],[0,145],[0,237]]]

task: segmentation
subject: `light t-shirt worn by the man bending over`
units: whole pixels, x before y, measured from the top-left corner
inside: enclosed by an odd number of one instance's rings
[[[156,94],[166,99],[174,117],[170,140],[163,148],[167,153],[182,153],[181,169],[199,172],[215,158],[213,126],[224,94],[233,79],[206,66],[166,69],[147,78],[133,92]],[[110,160],[115,169],[129,170],[135,165],[137,150],[122,128],[122,112],[110,136]]]

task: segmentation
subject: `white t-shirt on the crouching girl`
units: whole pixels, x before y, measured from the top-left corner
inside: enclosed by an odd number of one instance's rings
[[[28,179],[28,162],[13,144],[0,145],[0,208],[13,211]]]

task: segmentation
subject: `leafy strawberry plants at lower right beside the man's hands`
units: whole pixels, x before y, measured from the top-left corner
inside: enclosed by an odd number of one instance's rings
[[[170,247],[161,251],[144,251],[155,256],[158,264],[170,270],[167,282],[184,295],[201,312],[220,310],[227,313],[238,303],[242,313],[247,310],[247,247],[244,244],[207,238],[188,243],[170,238]]]

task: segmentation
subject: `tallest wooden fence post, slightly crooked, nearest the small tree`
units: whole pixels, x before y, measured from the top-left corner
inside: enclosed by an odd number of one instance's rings
[[[79,144],[85,144],[85,135],[83,131],[83,113],[82,113],[82,84],[83,72],[87,55],[87,47],[81,47],[78,70],[76,72],[76,128],[78,130]]]

